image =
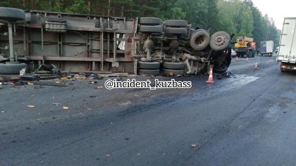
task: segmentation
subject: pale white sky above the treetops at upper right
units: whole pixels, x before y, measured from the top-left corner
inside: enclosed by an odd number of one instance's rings
[[[273,18],[276,27],[282,30],[285,17],[296,18],[296,1],[294,0],[252,0],[263,15]]]

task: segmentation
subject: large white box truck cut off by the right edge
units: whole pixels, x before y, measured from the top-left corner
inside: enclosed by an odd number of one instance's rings
[[[276,60],[282,72],[296,70],[296,18],[285,18]]]

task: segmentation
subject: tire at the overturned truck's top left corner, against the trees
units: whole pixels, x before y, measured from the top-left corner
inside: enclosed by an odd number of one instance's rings
[[[25,20],[25,11],[18,8],[0,7],[0,19],[11,22]]]

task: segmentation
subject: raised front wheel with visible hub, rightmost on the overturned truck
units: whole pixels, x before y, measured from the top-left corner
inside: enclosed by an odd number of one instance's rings
[[[211,35],[209,44],[214,51],[225,50],[230,44],[230,35],[223,31],[216,32]]]

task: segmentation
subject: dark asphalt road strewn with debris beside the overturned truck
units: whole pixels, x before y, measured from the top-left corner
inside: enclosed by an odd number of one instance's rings
[[[192,89],[175,90],[6,85],[0,165],[296,165],[296,75],[274,57],[230,72],[211,86],[178,77]]]

